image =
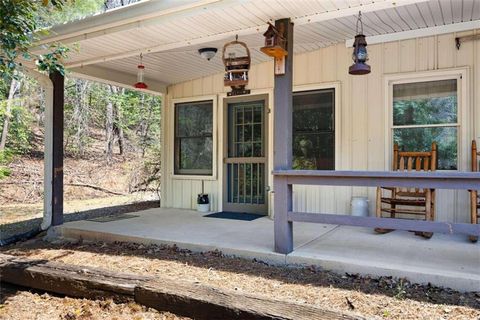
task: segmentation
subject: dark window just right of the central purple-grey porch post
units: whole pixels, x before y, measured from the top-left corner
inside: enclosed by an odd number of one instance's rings
[[[293,94],[293,169],[335,169],[335,89]]]

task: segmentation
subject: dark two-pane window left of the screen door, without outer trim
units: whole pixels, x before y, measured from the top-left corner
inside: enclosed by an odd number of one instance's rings
[[[175,104],[175,174],[212,175],[213,102]]]

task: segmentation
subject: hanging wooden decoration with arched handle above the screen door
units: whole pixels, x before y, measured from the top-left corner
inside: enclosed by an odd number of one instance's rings
[[[238,47],[244,51],[241,56],[237,56]],[[245,86],[248,84],[251,58],[247,45],[238,40],[226,43],[223,46],[222,60],[225,65],[223,83],[232,88],[228,95],[248,94],[250,90],[245,90]]]

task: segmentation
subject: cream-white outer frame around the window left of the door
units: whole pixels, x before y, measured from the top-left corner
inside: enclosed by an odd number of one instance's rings
[[[175,113],[176,113],[176,106],[183,103],[192,103],[198,101],[212,101],[212,108],[213,108],[213,127],[212,127],[212,174],[211,175],[192,175],[192,174],[175,174]],[[190,98],[179,98],[179,99],[172,99],[171,101],[171,110],[170,112],[170,123],[172,132],[171,132],[171,139],[170,143],[172,146],[172,153],[171,153],[171,178],[177,180],[217,180],[217,140],[218,140],[218,133],[217,133],[217,105],[218,99],[216,95],[206,95],[206,96],[196,96]]]

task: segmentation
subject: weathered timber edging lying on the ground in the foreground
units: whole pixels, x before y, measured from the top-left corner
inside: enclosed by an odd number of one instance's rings
[[[194,319],[364,319],[172,279],[0,254],[0,280],[71,297],[131,301]]]

